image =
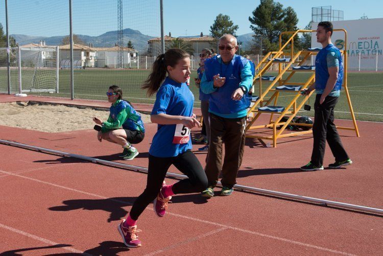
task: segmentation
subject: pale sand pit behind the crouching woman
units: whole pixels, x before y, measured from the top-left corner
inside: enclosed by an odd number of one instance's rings
[[[0,104],[0,125],[43,132],[65,132],[92,129],[92,117],[106,121],[109,111],[91,107],[12,102]],[[141,114],[150,123],[149,114]]]

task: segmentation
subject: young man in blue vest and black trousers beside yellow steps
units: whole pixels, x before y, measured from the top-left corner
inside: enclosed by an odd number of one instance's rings
[[[331,42],[332,30],[331,22],[319,22],[317,42],[322,44],[322,50],[315,59],[315,83],[302,92],[303,95],[308,95],[315,89],[317,93],[314,104],[313,154],[311,161],[300,168],[304,171],[323,170],[326,140],[335,157],[334,164],[330,164],[329,168],[340,168],[352,164],[343,148],[337,127],[333,123],[334,107],[339,100],[343,82],[343,63],[339,49]]]

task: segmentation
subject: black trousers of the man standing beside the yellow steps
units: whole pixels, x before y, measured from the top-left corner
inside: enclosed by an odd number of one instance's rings
[[[326,140],[336,161],[348,159],[343,148],[337,127],[334,125],[334,107],[339,97],[327,96],[322,104],[319,104],[321,94],[315,99],[315,120],[313,125],[314,147],[311,156],[311,163],[315,166],[323,165]]]

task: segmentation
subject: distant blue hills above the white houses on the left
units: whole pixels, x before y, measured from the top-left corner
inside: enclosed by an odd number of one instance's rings
[[[124,45],[126,46],[128,41],[131,40],[134,49],[138,51],[146,51],[148,48],[148,40],[153,38],[153,36],[148,36],[141,34],[138,30],[124,29]],[[28,44],[28,43],[38,43],[40,40],[45,41],[46,45],[59,45],[62,39],[65,36],[28,36],[28,35],[11,35],[16,39],[16,43],[19,45]],[[87,36],[79,35],[77,36],[83,40],[87,45],[93,43],[93,47],[111,47],[114,46],[117,42],[117,31],[109,31],[99,36]]]

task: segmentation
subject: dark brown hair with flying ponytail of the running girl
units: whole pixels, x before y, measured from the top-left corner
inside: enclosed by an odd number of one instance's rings
[[[152,73],[143,82],[142,89],[148,89],[147,95],[152,96],[165,80],[167,66],[174,67],[180,59],[189,57],[189,54],[181,49],[169,49],[159,55],[153,63]]]

